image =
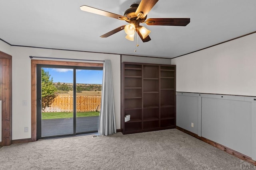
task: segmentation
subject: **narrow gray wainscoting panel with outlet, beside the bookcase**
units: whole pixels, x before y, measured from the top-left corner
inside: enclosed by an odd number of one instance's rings
[[[176,125],[198,135],[198,127],[201,129],[201,122],[198,125],[198,95],[176,94]],[[194,127],[191,127],[191,123],[194,123]]]

